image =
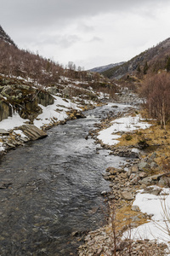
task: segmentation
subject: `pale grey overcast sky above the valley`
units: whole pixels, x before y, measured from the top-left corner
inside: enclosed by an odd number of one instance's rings
[[[169,0],[0,0],[20,49],[85,69],[128,61],[170,37]]]

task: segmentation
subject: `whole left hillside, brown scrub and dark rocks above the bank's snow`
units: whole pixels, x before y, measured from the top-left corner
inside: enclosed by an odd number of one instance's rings
[[[19,49],[1,26],[0,36],[0,121],[17,113],[33,124],[43,108],[54,105],[56,96],[61,98],[58,102],[62,99],[81,102],[82,108],[87,105],[92,108],[101,99],[114,96],[116,85],[99,73],[83,71],[72,62],[63,67],[41,55]],[[58,103],[54,108],[56,105]],[[75,118],[76,114],[71,117]],[[52,123],[56,122],[54,117]]]

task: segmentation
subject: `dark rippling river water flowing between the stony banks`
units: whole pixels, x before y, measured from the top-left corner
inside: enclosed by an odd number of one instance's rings
[[[0,165],[1,256],[76,255],[80,235],[105,224],[100,192],[110,189],[101,173],[124,159],[85,137],[107,113],[126,109],[95,108],[8,152]]]

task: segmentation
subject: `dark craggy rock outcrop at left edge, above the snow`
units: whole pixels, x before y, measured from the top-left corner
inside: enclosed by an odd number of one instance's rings
[[[23,119],[37,118],[42,109],[54,103],[54,97],[45,90],[37,89],[32,84],[20,79],[7,79],[0,76],[0,121],[12,116],[12,113],[20,113]]]

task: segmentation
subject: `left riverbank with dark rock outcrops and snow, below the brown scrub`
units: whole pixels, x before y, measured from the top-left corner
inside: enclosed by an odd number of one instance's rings
[[[105,96],[109,95],[78,79],[60,77],[53,85],[45,86],[32,79],[1,74],[0,156],[47,136],[46,131],[54,125],[82,118],[84,110],[99,106]]]

